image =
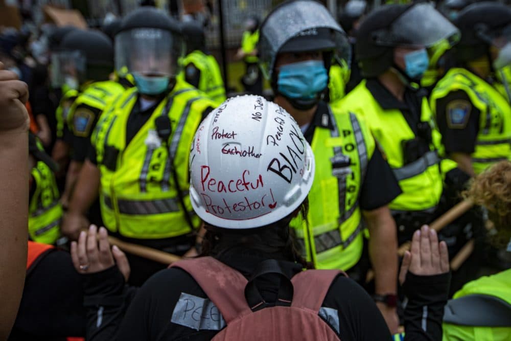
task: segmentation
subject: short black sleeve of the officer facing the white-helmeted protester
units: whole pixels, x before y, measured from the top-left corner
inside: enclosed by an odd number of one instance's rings
[[[367,211],[375,210],[389,204],[401,193],[401,187],[392,169],[383,159],[380,149],[375,148],[360,189],[360,208]]]

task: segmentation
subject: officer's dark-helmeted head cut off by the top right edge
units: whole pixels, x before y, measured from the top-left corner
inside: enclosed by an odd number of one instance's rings
[[[454,24],[461,31],[456,61],[482,64],[491,72],[511,63],[511,8],[497,2],[472,4],[459,12]]]

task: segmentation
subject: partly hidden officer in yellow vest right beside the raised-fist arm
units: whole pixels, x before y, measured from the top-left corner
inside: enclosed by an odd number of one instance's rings
[[[60,237],[62,205],[54,172],[58,165],[44,152],[37,137],[29,133],[31,156],[29,238],[54,244]]]

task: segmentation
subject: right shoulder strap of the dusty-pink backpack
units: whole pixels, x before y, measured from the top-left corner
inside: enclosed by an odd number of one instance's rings
[[[306,270],[299,272],[291,279],[294,288],[291,306],[307,308],[318,313],[332,282],[339,275],[346,276],[340,270]]]

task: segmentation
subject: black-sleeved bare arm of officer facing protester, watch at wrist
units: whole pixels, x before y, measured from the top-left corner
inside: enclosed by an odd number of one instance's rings
[[[387,205],[401,194],[401,188],[392,169],[378,148],[367,166],[361,188],[360,208],[369,230],[369,258],[375,271],[377,294],[396,294],[398,277],[398,249],[396,222]],[[392,333],[397,332],[399,320],[396,308],[378,302]]]

